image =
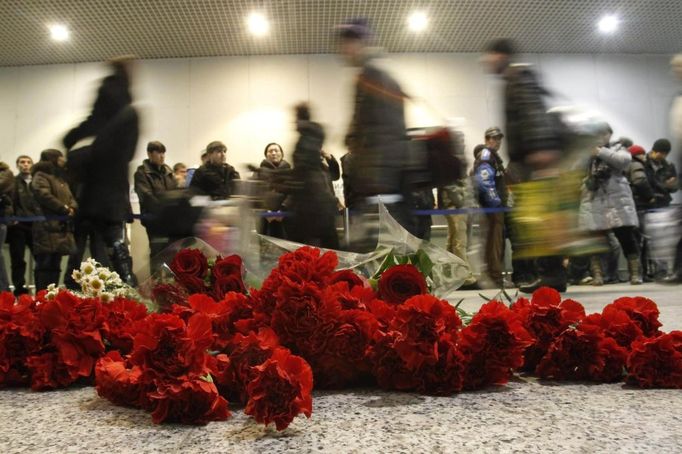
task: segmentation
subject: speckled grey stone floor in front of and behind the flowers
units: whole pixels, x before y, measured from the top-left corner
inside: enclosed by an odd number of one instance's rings
[[[682,329],[682,286],[572,287],[587,312],[621,295],[644,295],[664,330]],[[494,292],[482,292],[493,296]],[[478,292],[463,292],[475,310]],[[651,452],[682,451],[682,391],[639,390],[516,378],[509,385],[447,398],[378,390],[316,392],[311,419],[278,433],[233,409],[204,427],[152,424],[93,388],[0,391],[0,453],[278,452]]]

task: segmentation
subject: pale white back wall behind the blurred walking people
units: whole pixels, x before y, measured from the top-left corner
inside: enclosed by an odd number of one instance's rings
[[[617,135],[650,145],[665,135],[667,109],[678,90],[665,55],[528,55],[548,88],[568,100],[603,110]],[[493,124],[503,127],[500,82],[486,75],[477,54],[387,55],[406,92],[412,125],[465,119],[473,146]],[[0,156],[57,146],[64,132],[87,115],[101,64],[0,68]],[[291,106],[308,100],[327,132],[326,147],[345,152],[352,113],[352,69],[334,55],[149,60],[139,63],[136,102],[143,116],[138,158],[150,139],[168,147],[169,161],[197,164],[212,140],[228,146],[228,161],[243,166],[262,159],[269,141],[287,154],[295,141]],[[565,97],[566,100],[562,98]],[[550,100],[551,101],[551,100]],[[433,107],[433,109],[432,109]]]

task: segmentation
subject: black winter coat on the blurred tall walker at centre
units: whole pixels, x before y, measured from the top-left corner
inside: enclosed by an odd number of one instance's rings
[[[362,68],[346,136],[346,146],[353,155],[347,163],[347,178],[359,196],[406,192],[405,97],[400,85],[386,72],[370,64]]]

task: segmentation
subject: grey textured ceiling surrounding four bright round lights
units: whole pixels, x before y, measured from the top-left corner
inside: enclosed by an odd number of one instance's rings
[[[430,18],[415,35],[406,19]],[[252,11],[271,21],[267,37],[245,27]],[[621,29],[597,32],[604,14]],[[334,52],[333,26],[367,16],[389,52],[478,52],[510,37],[524,52],[674,53],[682,50],[682,0],[0,0],[0,66],[141,58]],[[47,24],[65,23],[68,42]]]

